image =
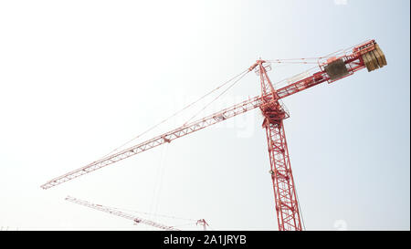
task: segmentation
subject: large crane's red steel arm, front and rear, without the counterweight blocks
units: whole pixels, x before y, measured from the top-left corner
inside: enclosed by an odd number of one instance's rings
[[[370,48],[371,47],[371,48]],[[344,64],[347,67],[348,74],[342,78],[345,78],[349,75],[352,75],[353,72],[358,71],[362,68],[364,68],[364,62],[362,59],[362,49],[374,49],[374,40],[368,41],[367,43],[364,43],[361,47],[355,47],[353,49],[353,53],[350,55],[344,55],[342,58]],[[368,51],[367,50],[367,51]],[[258,60],[258,62],[264,63],[265,61],[263,60]],[[249,67],[249,71],[253,70],[254,68],[258,67],[258,62],[253,64],[251,67]],[[295,82],[291,82],[288,86],[279,88],[275,92],[277,96],[273,97],[272,89],[271,86],[264,86],[263,89],[263,94],[261,96],[255,97],[253,99],[248,99],[245,100],[241,103],[238,103],[237,105],[230,107],[228,109],[223,109],[221,111],[216,112],[215,114],[209,115],[203,119],[198,119],[194,122],[191,122],[183,127],[177,128],[175,130],[166,132],[160,136],[157,136],[151,140],[146,140],[143,141],[142,143],[132,146],[128,149],[121,150],[120,152],[117,152],[115,154],[111,154],[103,159],[100,159],[98,161],[93,161],[90,164],[79,168],[78,170],[75,171],[70,171],[66,174],[63,174],[57,178],[54,178],[43,185],[41,185],[41,188],[43,189],[48,189],[51,187],[54,187],[58,184],[61,184],[63,182],[68,182],[69,180],[75,179],[81,175],[84,175],[86,173],[89,173],[91,171],[96,171],[98,169],[101,169],[105,166],[111,165],[114,162],[124,160],[126,158],[129,158],[133,155],[136,155],[138,153],[141,153],[142,151],[145,150],[150,150],[153,149],[154,147],[157,147],[159,145],[164,144],[165,142],[170,142],[172,140],[184,137],[185,135],[191,134],[197,130],[202,130],[205,127],[208,127],[210,125],[216,124],[217,122],[233,118],[237,116],[238,114],[247,112],[248,110],[251,109],[256,109],[262,104],[263,101],[269,101],[269,99],[275,98],[275,99],[284,99],[290,95],[293,95],[295,93],[298,93],[304,89],[311,88],[313,86],[316,86],[318,84],[321,84],[322,82],[333,82],[335,80],[339,80],[341,78],[337,78],[332,80],[328,74],[325,72],[324,66],[326,63],[319,63],[320,70],[316,73],[313,73],[311,76],[307,78],[302,78],[300,80],[297,80]]]

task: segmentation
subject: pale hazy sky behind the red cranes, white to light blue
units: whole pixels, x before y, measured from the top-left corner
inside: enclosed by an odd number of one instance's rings
[[[409,1],[0,1],[0,230],[278,230],[258,109],[99,171],[118,148],[263,59],[375,39],[388,65],[283,99],[306,230],[410,230]],[[273,82],[307,65],[272,65]],[[259,94],[254,72],[201,115]],[[216,95],[214,95],[216,97]],[[214,97],[138,140],[173,130]],[[150,213],[150,214],[147,214]],[[156,214],[156,215],[155,215]]]

